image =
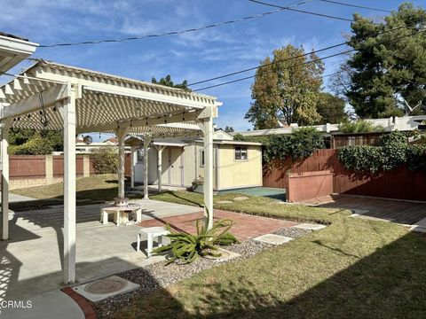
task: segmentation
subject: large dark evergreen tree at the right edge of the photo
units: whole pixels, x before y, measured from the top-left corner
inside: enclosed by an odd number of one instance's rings
[[[424,105],[426,34],[419,31],[426,27],[426,12],[401,4],[380,24],[358,14],[354,20],[349,44],[357,51],[347,62],[351,86],[345,95],[355,112],[361,118],[401,115],[404,99]]]

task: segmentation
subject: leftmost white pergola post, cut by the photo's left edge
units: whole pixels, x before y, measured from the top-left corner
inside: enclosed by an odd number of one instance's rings
[[[5,121],[2,128],[2,240],[9,239],[9,154],[7,148],[9,143],[10,121]]]

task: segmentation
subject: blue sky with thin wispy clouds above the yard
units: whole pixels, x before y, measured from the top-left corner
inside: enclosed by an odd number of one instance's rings
[[[286,6],[301,0],[264,0]],[[394,10],[403,1],[341,0],[348,4]],[[40,44],[75,43],[120,39],[201,27],[220,21],[273,11],[274,8],[247,0],[0,0],[0,31],[20,35]],[[426,7],[426,0],[412,2]],[[312,0],[295,8],[351,19],[354,12],[380,19],[383,12],[355,9]],[[299,12],[277,12],[260,19],[245,20],[182,35],[170,35],[123,43],[102,43],[58,48],[38,48],[33,58],[151,81],[170,74],[174,82],[198,82],[221,74],[258,66],[274,49],[287,44],[303,45],[306,51],[344,42],[351,23]],[[319,56],[344,51],[323,52]],[[332,74],[345,57],[325,61],[324,74]],[[24,61],[12,69],[19,73],[31,65]],[[253,75],[255,71],[207,82],[192,89]],[[0,79],[5,81],[4,77]],[[244,119],[251,100],[253,79],[201,90],[223,102],[217,126],[235,130],[252,128]],[[324,89],[327,88],[325,79]]]

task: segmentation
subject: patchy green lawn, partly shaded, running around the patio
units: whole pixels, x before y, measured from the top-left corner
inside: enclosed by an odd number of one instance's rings
[[[80,179],[78,198],[114,197],[114,176]],[[20,190],[58,198],[61,184]],[[109,195],[108,195],[109,194]],[[201,271],[140,296],[116,318],[422,318],[426,316],[426,240],[389,222],[349,217],[346,210],[280,205],[250,197],[217,204],[230,211],[329,224],[286,245]],[[153,199],[201,205],[200,194],[176,191]]]

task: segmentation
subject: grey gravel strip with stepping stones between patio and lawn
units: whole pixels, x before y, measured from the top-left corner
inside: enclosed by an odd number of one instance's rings
[[[296,238],[304,236],[309,232],[311,232],[311,230],[284,229],[277,231],[276,234]],[[260,253],[273,246],[274,245],[251,239],[243,241],[241,244],[224,246],[224,249],[241,255],[240,257],[233,258],[231,261],[226,262],[239,261],[252,257],[256,255],[256,253]],[[173,262],[166,266],[166,263],[167,261],[161,261],[144,268],[135,268],[116,274],[117,276],[130,280],[132,283],[139,284],[140,287],[133,292],[119,294],[95,303],[94,306],[97,308],[98,318],[109,318],[113,315],[114,311],[129,305],[132,300],[141,298],[146,293],[153,292],[154,290],[169,286],[170,284],[176,284],[185,278],[197,274],[203,269],[215,267],[222,262],[198,258],[190,264]]]

